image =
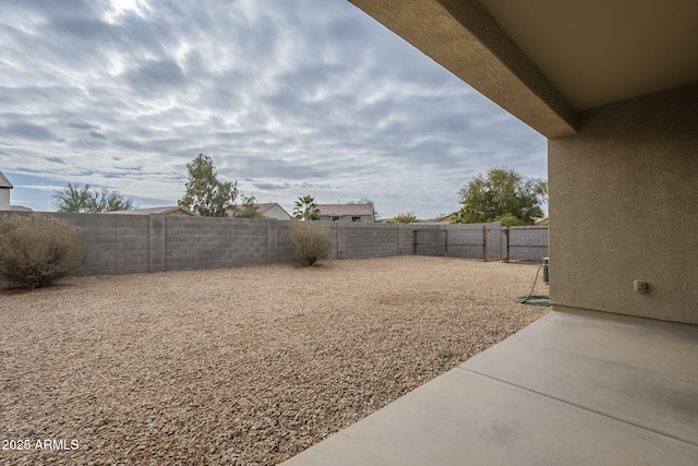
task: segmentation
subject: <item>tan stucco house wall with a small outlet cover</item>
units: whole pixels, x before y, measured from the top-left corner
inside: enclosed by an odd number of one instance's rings
[[[549,142],[553,303],[698,324],[698,86],[580,117]]]

